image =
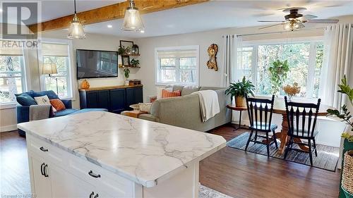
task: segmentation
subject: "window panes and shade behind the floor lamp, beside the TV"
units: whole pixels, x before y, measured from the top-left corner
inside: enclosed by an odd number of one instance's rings
[[[43,89],[53,90],[60,98],[71,98],[71,61],[68,44],[42,43],[43,64],[54,64],[57,73],[44,75]],[[56,89],[57,83],[57,89]]]

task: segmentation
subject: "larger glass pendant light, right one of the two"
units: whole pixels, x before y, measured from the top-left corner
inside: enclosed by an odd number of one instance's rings
[[[126,8],[124,23],[121,30],[125,31],[144,31],[145,26],[140,18],[140,12],[136,8],[133,0],[128,0],[129,6]]]

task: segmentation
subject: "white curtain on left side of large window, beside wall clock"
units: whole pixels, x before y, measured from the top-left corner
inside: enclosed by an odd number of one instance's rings
[[[241,58],[238,58],[241,51],[241,37],[237,35],[224,35],[224,56],[221,68],[221,87],[228,87],[230,82],[236,81],[238,77],[238,65]]]

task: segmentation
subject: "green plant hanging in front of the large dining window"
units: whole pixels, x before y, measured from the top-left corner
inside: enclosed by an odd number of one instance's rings
[[[271,82],[272,94],[276,97],[280,94],[280,88],[287,79],[287,73],[289,72],[288,61],[277,60],[272,63],[272,66],[268,68]]]

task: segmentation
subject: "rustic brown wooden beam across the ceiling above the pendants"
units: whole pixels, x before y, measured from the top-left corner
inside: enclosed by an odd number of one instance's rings
[[[192,4],[200,4],[210,0],[135,0],[136,7],[140,13],[153,13],[157,11],[165,11],[172,8],[189,6]],[[95,8],[90,11],[77,13],[78,18],[84,25],[92,23],[101,23],[109,20],[124,18],[125,10],[128,7],[128,1],[118,4]],[[33,33],[44,32],[49,30],[61,30],[70,26],[73,15],[48,20],[42,23],[29,25],[29,29]]]

